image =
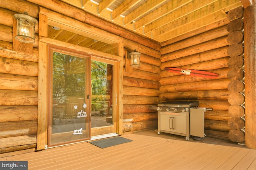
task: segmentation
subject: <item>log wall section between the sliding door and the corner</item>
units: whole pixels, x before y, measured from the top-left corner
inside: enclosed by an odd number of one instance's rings
[[[124,41],[126,51],[132,52],[138,44]],[[130,48],[130,49],[129,49]],[[140,131],[157,128],[157,112],[149,106],[160,102],[160,53],[150,56],[152,49],[144,47],[145,52],[140,55],[140,67],[128,68],[124,66],[123,81],[123,131]],[[139,51],[139,50],[137,50]],[[149,53],[146,53],[149,51]],[[141,51],[140,51],[141,52]],[[125,64],[126,67],[127,64]]]

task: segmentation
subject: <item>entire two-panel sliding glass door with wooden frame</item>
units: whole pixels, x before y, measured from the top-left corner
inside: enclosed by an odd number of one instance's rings
[[[115,135],[118,63],[54,45],[48,57],[48,147]]]

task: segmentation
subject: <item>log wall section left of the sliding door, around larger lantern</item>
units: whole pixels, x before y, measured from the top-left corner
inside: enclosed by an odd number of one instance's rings
[[[0,8],[0,154],[36,147],[38,48],[12,51],[12,18]],[[37,43],[34,43],[36,46]]]

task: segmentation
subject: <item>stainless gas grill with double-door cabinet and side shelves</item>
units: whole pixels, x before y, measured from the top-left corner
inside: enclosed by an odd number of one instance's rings
[[[186,140],[190,135],[204,137],[206,108],[198,106],[199,102],[195,101],[167,101],[159,103],[158,106],[151,106],[150,109],[158,111],[158,134],[164,132],[185,136]]]

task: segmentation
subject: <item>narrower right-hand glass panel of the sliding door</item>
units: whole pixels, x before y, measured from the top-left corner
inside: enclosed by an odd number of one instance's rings
[[[106,62],[106,63],[105,63]],[[114,133],[114,64],[103,59],[91,61],[91,132],[92,136]]]

